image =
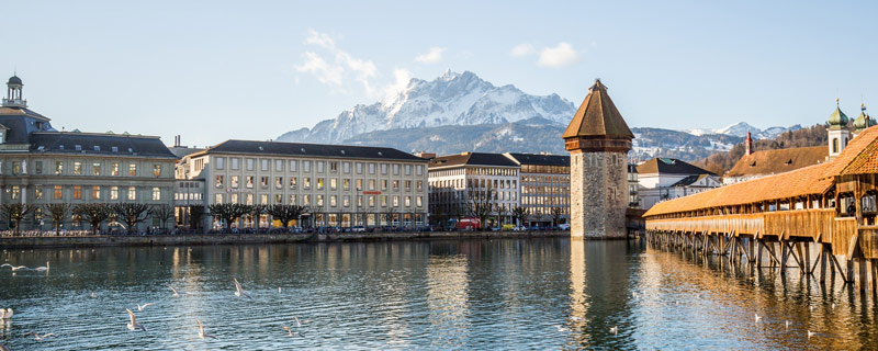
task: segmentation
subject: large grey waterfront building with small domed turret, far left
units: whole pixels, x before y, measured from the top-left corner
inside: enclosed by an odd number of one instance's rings
[[[177,158],[159,137],[58,132],[52,120],[27,107],[19,77],[11,77],[7,87],[0,106],[0,204],[36,205],[21,229],[53,228],[42,206],[46,204],[173,204]],[[147,218],[136,229],[162,226],[158,218]],[[0,229],[7,228],[10,223],[0,223]],[[69,215],[63,228],[89,229]]]

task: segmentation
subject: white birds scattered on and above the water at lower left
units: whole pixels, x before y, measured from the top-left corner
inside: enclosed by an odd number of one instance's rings
[[[33,268],[33,269],[24,267],[24,265],[12,265],[12,264],[9,264],[9,263],[3,263],[2,265],[0,265],[0,268],[5,268],[5,267],[9,267],[12,270],[13,274],[15,274],[14,272],[20,271],[20,270],[25,270],[25,271],[26,270],[46,271],[46,272],[49,270],[49,263],[48,262],[46,262],[45,267],[37,267],[37,268]],[[233,279],[233,282],[235,283],[235,296],[245,297],[245,298],[248,298],[248,299],[254,299],[254,297],[250,296],[250,293],[245,291],[244,287],[240,285],[240,283],[238,282],[238,279],[236,279],[236,278]],[[184,292],[182,290],[179,290],[179,288],[177,288],[177,287],[175,287],[175,286],[172,286],[170,284],[168,285],[168,287],[171,290],[171,293],[172,293],[171,296],[172,297],[179,297],[179,296],[188,294],[187,292]],[[281,287],[278,287],[278,293],[281,293],[281,291],[282,291]],[[97,294],[95,293],[91,293],[91,297],[97,297]],[[144,309],[146,309],[146,307],[153,306],[153,305],[155,305],[155,304],[154,303],[146,303],[146,304],[143,304],[143,305],[138,304],[137,305],[137,312],[143,312]],[[137,316],[134,314],[134,312],[132,312],[130,308],[125,308],[125,312],[128,314],[128,322],[125,325],[125,327],[127,327],[127,329],[130,331],[135,331],[135,330],[146,331],[147,330],[146,326],[144,326],[143,324],[137,321]],[[13,315],[14,315],[14,313],[13,313],[12,308],[7,308],[7,309],[0,308],[0,324],[10,322],[12,320],[12,316]],[[299,320],[299,317],[293,316],[293,318],[295,319],[295,328],[296,328],[296,330],[301,329],[302,328],[302,322]],[[195,318],[195,322],[198,324],[198,337],[199,337],[199,339],[217,339],[216,336],[214,336],[212,333],[207,333],[204,330],[204,324],[201,322],[200,318]],[[282,328],[283,328],[283,330],[286,331],[286,333],[291,338],[296,337],[296,336],[302,336],[301,332],[294,330],[291,327],[282,326]],[[30,336],[33,336],[35,341],[43,341],[43,340],[46,340],[46,338],[56,337],[55,333],[52,333],[52,332],[41,335],[41,333],[37,333],[35,331],[30,331],[30,332],[24,333],[24,337],[30,337]],[[9,349],[5,346],[0,344],[0,351],[9,351]]]

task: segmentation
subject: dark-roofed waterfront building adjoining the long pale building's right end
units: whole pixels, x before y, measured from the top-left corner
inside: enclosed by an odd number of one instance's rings
[[[485,196],[497,206],[489,224],[511,223],[518,206],[521,167],[503,154],[461,152],[429,161],[430,213],[436,224],[451,218],[475,216],[473,205]],[[442,223],[443,224],[443,223]]]

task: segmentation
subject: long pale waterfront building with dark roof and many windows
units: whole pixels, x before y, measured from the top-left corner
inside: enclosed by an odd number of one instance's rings
[[[177,178],[203,182],[204,206],[307,206],[306,226],[423,225],[429,205],[427,160],[386,147],[226,140],[180,159]]]

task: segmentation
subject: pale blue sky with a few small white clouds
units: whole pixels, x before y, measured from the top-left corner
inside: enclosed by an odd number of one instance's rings
[[[60,129],[273,139],[408,79],[470,70],[629,126],[821,123],[878,111],[878,2],[2,1],[0,78]]]

